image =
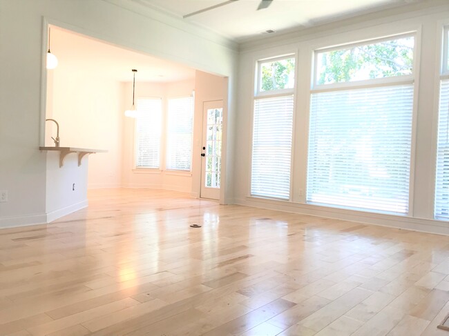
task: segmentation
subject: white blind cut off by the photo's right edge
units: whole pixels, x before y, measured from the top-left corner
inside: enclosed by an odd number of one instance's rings
[[[437,148],[434,216],[449,220],[449,79],[441,81]]]

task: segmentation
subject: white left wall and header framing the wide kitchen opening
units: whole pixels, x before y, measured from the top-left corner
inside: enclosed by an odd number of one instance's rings
[[[233,43],[162,14],[124,10],[128,1],[0,0],[0,226],[46,221],[46,26],[48,21],[90,37],[192,68],[232,75]],[[99,156],[99,154],[97,154]]]

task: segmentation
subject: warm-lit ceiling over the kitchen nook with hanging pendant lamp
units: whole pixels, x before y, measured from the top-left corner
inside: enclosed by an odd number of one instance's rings
[[[157,59],[112,44],[50,26],[50,50],[57,56],[58,67],[68,67],[73,73],[113,81],[135,80],[171,82],[192,79],[195,70],[178,63]],[[57,69],[56,69],[57,70]]]

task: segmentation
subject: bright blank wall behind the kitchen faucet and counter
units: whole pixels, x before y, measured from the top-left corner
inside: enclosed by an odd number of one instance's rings
[[[122,85],[118,81],[97,78],[82,72],[82,64],[60,64],[48,81],[52,101],[47,101],[47,118],[59,123],[60,146],[108,150],[91,154],[88,161],[88,187],[120,187],[122,179]],[[51,115],[50,115],[51,111]],[[47,121],[49,134],[56,135],[54,123]]]

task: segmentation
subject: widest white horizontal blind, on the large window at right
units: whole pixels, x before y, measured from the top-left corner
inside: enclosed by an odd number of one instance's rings
[[[413,85],[312,95],[307,201],[408,213]]]

